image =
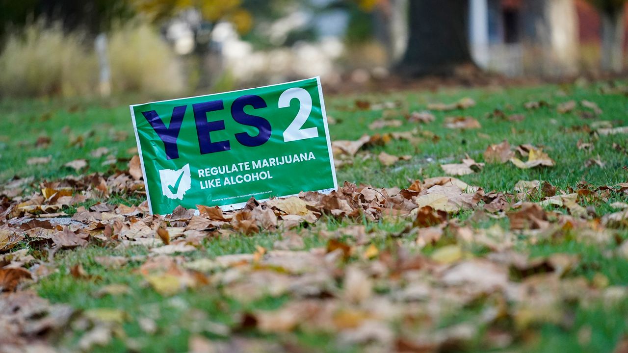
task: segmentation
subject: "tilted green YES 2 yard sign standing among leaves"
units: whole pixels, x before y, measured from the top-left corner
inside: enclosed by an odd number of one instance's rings
[[[153,214],[337,188],[318,77],[131,106]]]

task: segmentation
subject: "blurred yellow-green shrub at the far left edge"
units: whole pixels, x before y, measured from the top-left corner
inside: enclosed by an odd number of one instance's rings
[[[0,95],[83,95],[94,92],[97,61],[84,36],[31,24],[8,36],[0,52]]]

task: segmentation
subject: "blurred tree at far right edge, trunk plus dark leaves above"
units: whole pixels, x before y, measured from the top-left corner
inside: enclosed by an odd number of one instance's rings
[[[602,60],[605,71],[624,69],[625,4],[628,0],[587,0],[602,18]]]

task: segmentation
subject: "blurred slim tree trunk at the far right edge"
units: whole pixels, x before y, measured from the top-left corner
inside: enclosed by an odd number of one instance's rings
[[[621,72],[624,69],[624,6],[601,11],[602,70]]]

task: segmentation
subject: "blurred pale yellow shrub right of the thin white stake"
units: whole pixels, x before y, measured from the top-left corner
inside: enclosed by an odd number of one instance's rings
[[[167,94],[183,89],[175,53],[148,24],[117,26],[110,35],[109,60],[114,92]]]

